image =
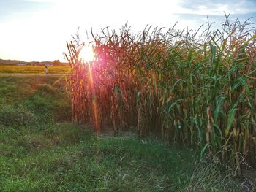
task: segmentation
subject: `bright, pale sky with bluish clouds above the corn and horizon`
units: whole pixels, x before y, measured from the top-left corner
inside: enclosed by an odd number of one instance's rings
[[[256,23],[256,0],[0,0],[0,58],[65,61],[66,42],[78,28],[81,37],[86,29],[118,30],[127,22],[135,32],[147,24],[170,28],[177,21],[176,28],[196,29],[206,25],[207,16],[220,28],[224,12]]]

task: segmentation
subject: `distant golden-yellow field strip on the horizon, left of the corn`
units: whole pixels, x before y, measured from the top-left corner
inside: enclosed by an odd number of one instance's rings
[[[48,66],[48,73],[69,73],[69,69],[69,66]],[[45,66],[0,66],[0,74],[45,74]]]

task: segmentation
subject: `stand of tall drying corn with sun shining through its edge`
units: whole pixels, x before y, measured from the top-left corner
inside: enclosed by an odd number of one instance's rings
[[[228,16],[219,30],[146,26],[132,34],[91,32],[94,61],[80,58],[83,42],[67,42],[72,119],[135,127],[170,144],[221,151],[222,160],[256,166],[256,33],[252,23]]]

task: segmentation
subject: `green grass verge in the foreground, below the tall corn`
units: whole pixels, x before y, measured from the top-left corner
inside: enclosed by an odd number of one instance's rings
[[[0,77],[0,191],[239,191],[197,151],[97,137],[69,106],[58,77]]]

